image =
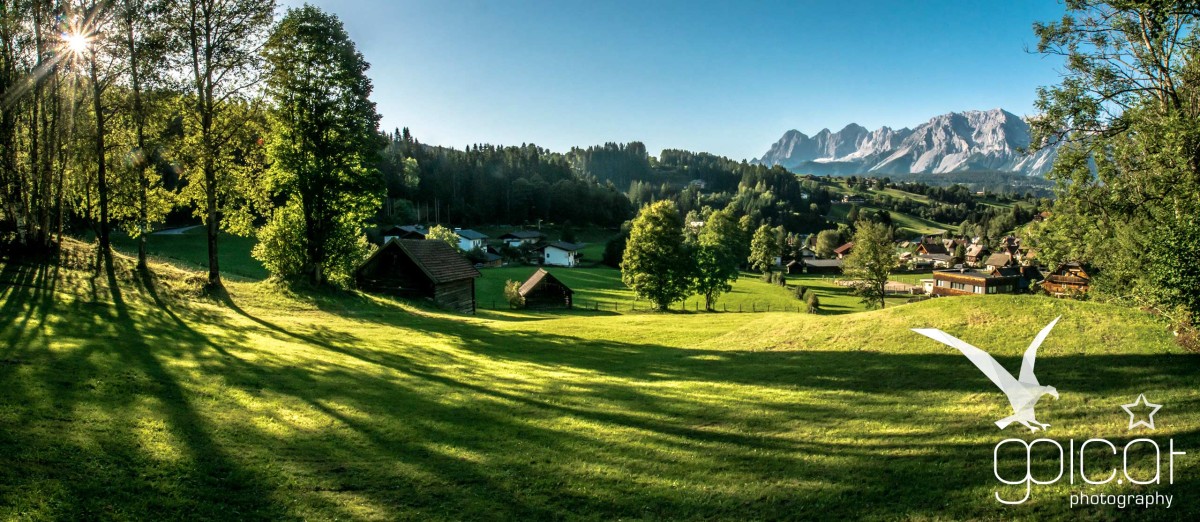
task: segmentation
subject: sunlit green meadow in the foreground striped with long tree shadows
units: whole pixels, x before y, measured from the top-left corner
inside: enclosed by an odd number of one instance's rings
[[[188,274],[156,264],[146,284],[127,266],[0,270],[0,518],[1200,516],[1196,356],[1138,311],[971,296],[463,317],[260,282],[209,301]],[[1062,398],[1039,420],[1064,444],[1123,444],[1146,433],[1118,404],[1165,404],[1151,436],[1188,451],[1174,484],[1088,487],[1172,493],[1170,510],[1072,510],[1064,481],[997,504],[992,446],[1036,436],[997,431],[996,388],[908,331],[944,329],[1013,368],[1057,316],[1037,372]]]

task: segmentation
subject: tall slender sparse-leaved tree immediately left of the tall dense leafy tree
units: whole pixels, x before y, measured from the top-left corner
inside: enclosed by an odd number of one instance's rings
[[[199,170],[184,191],[208,228],[208,289],[220,292],[217,233],[250,232],[246,166],[232,144],[245,138],[257,104],[247,101],[260,80],[258,48],[275,16],[274,0],[182,0],[173,11],[187,67],[190,160]],[[242,142],[245,143],[245,142]],[[239,179],[240,178],[240,179]],[[230,216],[230,214],[236,214]],[[233,217],[233,220],[229,220]]]

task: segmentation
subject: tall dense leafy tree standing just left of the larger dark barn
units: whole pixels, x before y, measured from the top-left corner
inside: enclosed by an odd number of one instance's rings
[[[272,188],[300,206],[305,275],[314,284],[344,278],[360,257],[354,238],[384,191],[368,65],[341,20],[310,5],[287,11],[264,56]]]

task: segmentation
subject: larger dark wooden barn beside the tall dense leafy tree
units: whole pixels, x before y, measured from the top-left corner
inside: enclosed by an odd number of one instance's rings
[[[354,270],[359,288],[475,313],[479,270],[445,241],[391,239]]]

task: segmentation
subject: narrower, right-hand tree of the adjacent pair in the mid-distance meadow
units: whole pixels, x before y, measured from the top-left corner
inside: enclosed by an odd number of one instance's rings
[[[733,289],[738,280],[737,240],[740,235],[733,216],[724,210],[713,212],[696,238],[696,293],[704,296],[704,310],[713,310],[716,298]]]

